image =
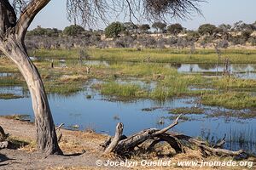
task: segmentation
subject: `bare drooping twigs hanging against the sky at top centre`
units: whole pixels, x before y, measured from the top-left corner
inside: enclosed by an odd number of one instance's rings
[[[108,22],[109,18],[125,14],[132,19],[166,20],[167,18],[189,19],[191,14],[201,14],[199,3],[205,0],[67,0],[68,20],[75,24],[93,26],[96,21]]]

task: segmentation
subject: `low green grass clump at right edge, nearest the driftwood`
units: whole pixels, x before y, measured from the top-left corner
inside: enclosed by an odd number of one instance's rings
[[[243,92],[204,94],[201,101],[203,105],[223,106],[230,109],[250,109],[256,107],[256,97]]]

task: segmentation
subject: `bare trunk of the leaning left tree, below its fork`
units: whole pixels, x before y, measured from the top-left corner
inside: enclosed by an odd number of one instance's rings
[[[7,41],[3,42],[2,46],[3,53],[18,66],[30,91],[37,127],[38,151],[44,153],[45,156],[62,154],[57,142],[55,124],[49,109],[44,84],[38,69],[33,65],[22,41],[17,40],[15,35],[10,35]]]

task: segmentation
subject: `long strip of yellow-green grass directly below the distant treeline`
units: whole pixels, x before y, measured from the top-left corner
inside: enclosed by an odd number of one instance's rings
[[[189,49],[150,49],[138,51],[136,48],[89,48],[91,59],[106,59],[116,61],[150,61],[156,63],[217,63],[218,55],[214,49],[196,49],[190,55]],[[231,63],[256,63],[256,49],[223,49],[223,59],[230,58]],[[36,55],[50,59],[77,59],[79,49],[39,49]]]

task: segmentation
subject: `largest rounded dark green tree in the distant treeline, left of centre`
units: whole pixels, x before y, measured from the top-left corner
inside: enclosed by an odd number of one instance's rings
[[[120,22],[113,22],[105,29],[106,37],[119,37],[119,34],[125,31],[125,26]]]

